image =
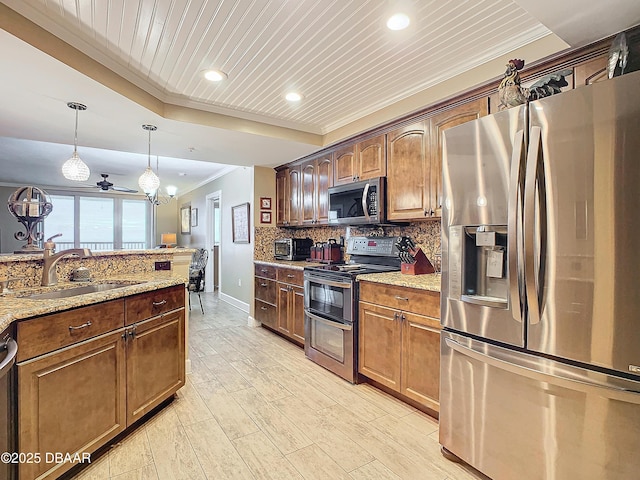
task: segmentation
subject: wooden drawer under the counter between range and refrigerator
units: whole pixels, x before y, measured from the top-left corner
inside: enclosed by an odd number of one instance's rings
[[[360,282],[360,300],[405,312],[440,318],[440,294],[430,290]]]

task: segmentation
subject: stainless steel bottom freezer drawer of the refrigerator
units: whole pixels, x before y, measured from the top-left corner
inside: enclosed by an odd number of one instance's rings
[[[640,382],[442,332],[440,443],[493,480],[638,478]]]

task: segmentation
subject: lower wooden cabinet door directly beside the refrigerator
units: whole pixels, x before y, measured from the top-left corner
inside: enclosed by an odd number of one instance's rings
[[[402,382],[400,393],[440,410],[440,321],[402,312]]]

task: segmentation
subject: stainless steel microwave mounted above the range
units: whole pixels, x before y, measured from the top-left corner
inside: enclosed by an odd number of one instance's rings
[[[329,188],[329,223],[385,223],[385,178],[376,177]]]

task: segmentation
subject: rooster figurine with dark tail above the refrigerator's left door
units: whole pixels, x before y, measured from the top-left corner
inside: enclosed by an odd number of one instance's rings
[[[504,78],[498,86],[500,110],[522,105],[527,100],[538,100],[562,92],[562,87],[569,85],[565,77],[573,73],[570,68],[551,73],[538,80],[530,88],[524,88],[520,85],[520,74],[518,73],[522,67],[524,67],[524,60],[513,59],[507,63]]]

